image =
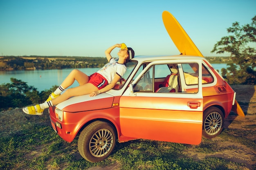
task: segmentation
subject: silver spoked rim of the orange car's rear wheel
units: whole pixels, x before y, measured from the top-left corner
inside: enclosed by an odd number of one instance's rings
[[[210,113],[204,121],[204,130],[208,135],[217,134],[222,127],[222,117],[218,112]]]

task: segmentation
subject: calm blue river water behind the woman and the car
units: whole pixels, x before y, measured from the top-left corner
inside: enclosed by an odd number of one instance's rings
[[[216,70],[227,68],[227,64],[212,64]],[[20,79],[27,82],[27,85],[34,86],[38,91],[52,88],[54,85],[60,85],[65,77],[72,71],[69,69],[56,69],[56,70],[26,70],[26,71],[0,71],[0,84],[11,83],[10,78]],[[79,68],[87,75],[91,75],[99,70],[99,68]],[[78,86],[75,82],[71,87]]]

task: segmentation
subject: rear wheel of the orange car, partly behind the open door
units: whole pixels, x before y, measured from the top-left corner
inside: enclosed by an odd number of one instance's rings
[[[210,107],[204,110],[202,135],[208,139],[220,134],[224,125],[224,116],[222,111],[216,107]]]

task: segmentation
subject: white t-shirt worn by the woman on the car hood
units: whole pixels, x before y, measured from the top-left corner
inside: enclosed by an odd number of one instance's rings
[[[126,65],[119,64],[117,61],[118,58],[111,58],[108,64],[106,64],[99,71],[97,71],[97,73],[101,74],[108,80],[108,84],[110,84],[113,81],[116,74],[122,77],[126,72]]]

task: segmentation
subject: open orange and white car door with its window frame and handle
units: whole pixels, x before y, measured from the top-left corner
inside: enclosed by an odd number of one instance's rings
[[[186,89],[182,89],[182,84],[186,82],[180,82],[185,81],[180,60],[151,62],[141,73],[135,75],[130,88],[120,98],[122,135],[138,139],[200,144],[203,117],[202,61],[186,60],[188,62],[199,68],[199,76],[195,77],[198,82],[193,85],[196,87],[193,93],[186,93]],[[176,73],[179,91],[156,92],[155,88],[158,87],[154,84],[157,81],[155,75],[158,64],[176,64],[179,67]]]

